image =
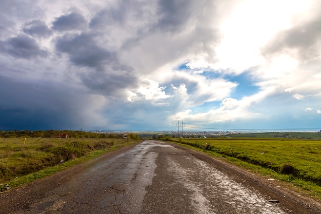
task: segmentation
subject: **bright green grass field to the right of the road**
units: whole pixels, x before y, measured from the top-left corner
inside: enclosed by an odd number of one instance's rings
[[[289,182],[321,200],[320,140],[215,138],[177,142],[263,176]]]

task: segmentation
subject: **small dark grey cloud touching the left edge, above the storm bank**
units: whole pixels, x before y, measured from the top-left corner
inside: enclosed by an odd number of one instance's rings
[[[46,50],[39,47],[37,42],[26,35],[18,35],[5,42],[0,42],[0,50],[16,58],[32,59],[34,57],[45,57]]]

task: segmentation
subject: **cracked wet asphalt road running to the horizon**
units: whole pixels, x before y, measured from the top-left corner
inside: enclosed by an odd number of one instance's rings
[[[0,213],[314,212],[307,204],[298,205],[307,211],[292,209],[295,204],[282,201],[284,195],[233,167],[216,167],[203,154],[159,141],[145,141],[68,173],[68,178],[56,175],[50,185],[39,181],[19,190],[24,193],[0,196]]]

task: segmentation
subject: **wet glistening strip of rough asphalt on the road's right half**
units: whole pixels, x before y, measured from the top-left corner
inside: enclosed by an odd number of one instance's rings
[[[193,191],[192,203],[199,213],[220,213],[222,209],[234,209],[237,213],[286,213],[259,192],[236,183],[206,162],[190,157],[189,167],[183,168],[170,157],[167,161],[177,181]],[[217,202],[224,203],[217,207]]]

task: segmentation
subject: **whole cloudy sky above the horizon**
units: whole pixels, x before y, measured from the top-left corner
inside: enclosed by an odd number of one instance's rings
[[[0,20],[0,130],[321,129],[319,0],[2,0]]]

